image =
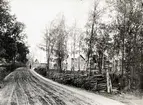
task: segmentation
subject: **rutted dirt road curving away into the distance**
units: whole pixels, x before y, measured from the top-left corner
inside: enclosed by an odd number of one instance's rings
[[[5,78],[0,105],[124,105],[120,102],[64,86],[33,70],[19,68]]]

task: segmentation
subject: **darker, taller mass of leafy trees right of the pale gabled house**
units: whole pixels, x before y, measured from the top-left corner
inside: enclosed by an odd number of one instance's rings
[[[85,50],[88,63],[97,63],[100,73],[105,69],[106,60],[121,59],[122,78],[126,76],[126,86],[136,89],[139,86],[139,74],[142,73],[142,2],[138,0],[108,1],[116,15],[111,23],[101,22],[101,11],[98,4],[89,16],[86,26]],[[96,18],[95,18],[96,17]],[[91,61],[90,61],[91,60]],[[113,64],[114,62],[112,62]],[[89,67],[89,66],[87,66]],[[97,68],[95,68],[97,69]],[[108,68],[109,69],[109,68]]]

